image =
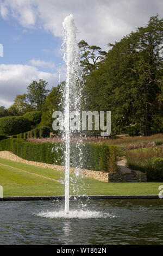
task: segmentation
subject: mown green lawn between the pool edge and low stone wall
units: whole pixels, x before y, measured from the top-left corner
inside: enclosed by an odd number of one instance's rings
[[[4,166],[3,164],[7,164],[10,167]],[[27,170],[31,174],[23,172],[20,169]],[[64,172],[0,158],[0,185],[3,186],[4,197],[64,195],[63,184],[33,175],[32,173],[55,180],[64,179]],[[71,195],[158,194],[158,187],[163,185],[162,182],[106,183],[91,178],[74,178],[73,175],[71,175],[71,178],[73,178],[71,182],[75,184],[74,188],[71,186]]]

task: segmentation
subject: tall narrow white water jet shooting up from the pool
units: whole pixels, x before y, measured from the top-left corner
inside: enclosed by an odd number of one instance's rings
[[[64,134],[65,141],[65,212],[69,212],[70,187],[70,112],[80,109],[82,68],[80,66],[80,51],[76,40],[76,26],[73,15],[65,18],[63,25],[64,61],[66,63],[66,82],[64,88]],[[79,144],[78,144],[79,145]]]

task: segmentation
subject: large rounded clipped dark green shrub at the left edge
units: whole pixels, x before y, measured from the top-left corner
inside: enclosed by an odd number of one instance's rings
[[[2,134],[17,135],[30,130],[30,121],[24,117],[0,118],[0,132]]]

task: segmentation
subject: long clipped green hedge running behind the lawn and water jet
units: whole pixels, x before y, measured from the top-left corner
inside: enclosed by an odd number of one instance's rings
[[[29,161],[64,165],[64,143],[33,143],[23,139],[4,139],[0,151],[8,150]],[[90,170],[116,171],[115,145],[71,143],[70,166]]]

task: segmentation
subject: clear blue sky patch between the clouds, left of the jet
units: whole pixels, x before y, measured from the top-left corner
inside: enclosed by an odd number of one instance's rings
[[[0,24],[3,44],[3,58],[0,59],[0,64],[29,65],[32,59],[42,60],[49,65],[40,64],[38,70],[52,72],[62,62],[61,37],[54,37],[44,29],[23,28],[12,17],[8,20],[0,17]]]

